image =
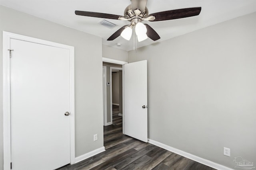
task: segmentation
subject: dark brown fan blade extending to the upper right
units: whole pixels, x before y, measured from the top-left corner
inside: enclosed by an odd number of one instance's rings
[[[156,12],[148,16],[156,17],[156,19],[153,21],[164,21],[164,20],[174,20],[178,18],[198,16],[200,12],[201,12],[201,7],[196,7],[196,8],[184,8],[179,10]]]

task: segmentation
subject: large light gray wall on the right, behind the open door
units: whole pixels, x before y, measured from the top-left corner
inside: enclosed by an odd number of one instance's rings
[[[256,162],[256,13],[128,52],[145,59],[150,139],[230,168]]]

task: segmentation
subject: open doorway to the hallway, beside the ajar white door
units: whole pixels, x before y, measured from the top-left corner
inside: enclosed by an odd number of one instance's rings
[[[120,143],[123,136],[123,72],[122,65],[127,62],[103,58],[103,117],[104,147],[108,149]],[[121,86],[120,86],[121,85]]]

